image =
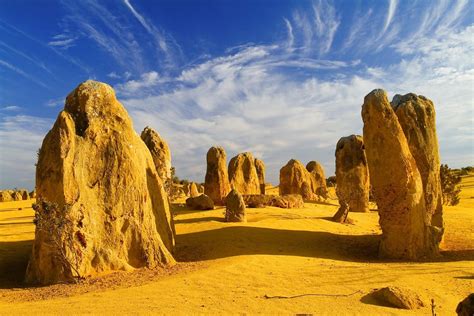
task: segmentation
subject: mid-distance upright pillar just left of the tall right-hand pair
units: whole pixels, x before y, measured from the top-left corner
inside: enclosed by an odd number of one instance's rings
[[[369,211],[369,169],[362,136],[342,137],[337,142],[336,183],[339,203],[346,203],[349,212]]]

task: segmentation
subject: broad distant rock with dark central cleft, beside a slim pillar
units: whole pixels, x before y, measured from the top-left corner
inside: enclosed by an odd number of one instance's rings
[[[229,183],[240,194],[259,194],[260,182],[251,153],[241,153],[229,162]]]

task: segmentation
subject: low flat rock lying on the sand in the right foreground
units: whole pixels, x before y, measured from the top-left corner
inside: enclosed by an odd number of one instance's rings
[[[402,309],[418,309],[425,306],[421,297],[410,289],[384,287],[372,292],[371,296],[380,303]]]

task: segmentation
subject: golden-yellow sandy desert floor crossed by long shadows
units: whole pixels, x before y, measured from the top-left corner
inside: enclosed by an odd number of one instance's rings
[[[337,201],[248,209],[245,224],[224,223],[223,208],[190,211],[176,204],[177,266],[38,288],[22,285],[33,201],[0,203],[0,314],[431,315],[434,299],[438,315],[453,315],[474,292],[474,176],[462,185],[460,204],[445,208],[442,256],[430,262],[378,259],[377,213],[351,213],[353,224],[336,224],[328,219]],[[367,297],[389,285],[415,290],[427,306],[405,311]],[[315,295],[265,297],[301,294]]]

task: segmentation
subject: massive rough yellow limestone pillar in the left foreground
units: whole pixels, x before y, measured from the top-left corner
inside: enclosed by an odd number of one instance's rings
[[[36,169],[29,283],[173,264],[174,230],[153,158],[113,89],[80,84]]]

